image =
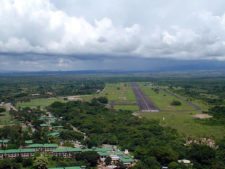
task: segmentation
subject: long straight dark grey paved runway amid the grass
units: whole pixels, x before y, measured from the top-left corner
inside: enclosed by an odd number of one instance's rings
[[[137,83],[131,83],[131,87],[136,96],[136,101],[142,112],[158,112],[159,109],[154,103],[142,92]]]

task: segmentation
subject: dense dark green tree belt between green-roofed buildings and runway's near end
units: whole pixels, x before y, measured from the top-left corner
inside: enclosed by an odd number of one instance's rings
[[[184,147],[182,138],[175,130],[163,128],[157,121],[149,123],[148,120],[139,119],[129,111],[109,110],[96,102],[55,102],[49,107],[49,111],[87,133],[86,144],[90,147],[118,144],[122,149],[131,150],[135,158],[141,160],[136,166],[139,168],[157,168],[159,164],[168,165],[187,157],[193,159],[196,168],[199,164],[210,168],[220,158],[216,155],[216,150],[208,146]],[[199,153],[209,151],[207,154],[210,156],[205,154],[205,157],[211,161],[205,163],[201,160],[202,154],[198,154],[197,149]]]

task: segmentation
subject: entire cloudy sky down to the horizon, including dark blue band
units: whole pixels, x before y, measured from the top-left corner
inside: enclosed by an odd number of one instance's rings
[[[224,62],[224,0],[0,1],[1,71]]]

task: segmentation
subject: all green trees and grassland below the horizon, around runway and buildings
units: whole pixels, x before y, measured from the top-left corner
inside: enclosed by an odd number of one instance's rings
[[[152,82],[146,82],[149,80]],[[138,107],[129,83],[132,81],[139,81],[143,92],[160,109],[159,113],[133,115]],[[88,147],[118,145],[122,150],[129,149],[139,160],[135,169],[159,169],[164,165],[171,169],[188,168],[178,163],[178,159],[191,160],[193,169],[222,169],[225,167],[224,86],[221,77],[0,77],[0,102],[10,102],[18,108],[10,112],[0,108],[0,138],[9,139],[8,148],[19,148],[30,139],[35,143],[63,142],[70,146],[73,146],[70,140]],[[71,95],[80,95],[83,101],[64,99]],[[40,117],[49,116],[48,112],[58,119],[53,127],[62,126],[57,138],[50,137],[49,131],[41,127],[45,121]],[[212,118],[193,118],[199,113]],[[205,137],[215,140],[216,147],[185,144],[187,138]],[[34,159],[0,160],[0,169],[95,167],[98,158],[92,151],[72,159],[36,155]],[[108,158],[106,163],[110,161]],[[120,168],[125,166],[120,164]]]

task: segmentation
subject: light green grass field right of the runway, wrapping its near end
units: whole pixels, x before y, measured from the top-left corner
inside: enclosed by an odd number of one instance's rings
[[[193,118],[194,114],[199,113],[192,106],[188,105],[185,98],[180,100],[175,96],[171,96],[164,90],[155,92],[154,87],[140,83],[142,90],[153,100],[156,106],[161,110],[159,113],[142,113],[141,116],[147,119],[159,120],[162,126],[168,126],[177,129],[178,132],[185,137],[212,137],[221,139],[225,136],[223,126],[209,126],[200,123],[200,120]],[[181,106],[171,106],[173,100],[179,100]],[[202,110],[207,110],[207,105],[200,100],[192,101],[200,106]],[[204,120],[204,119],[203,119]]]

